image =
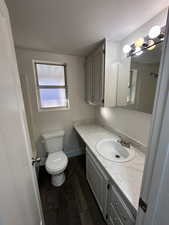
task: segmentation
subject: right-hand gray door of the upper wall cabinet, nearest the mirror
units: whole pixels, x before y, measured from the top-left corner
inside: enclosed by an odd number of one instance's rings
[[[105,75],[105,54],[104,46],[101,45],[93,54],[93,89],[94,104],[104,103],[104,75]]]

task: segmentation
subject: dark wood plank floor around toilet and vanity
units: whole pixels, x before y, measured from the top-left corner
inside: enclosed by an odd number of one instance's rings
[[[53,187],[41,167],[39,188],[46,225],[106,225],[86,180],[84,156],[69,159],[61,187]]]

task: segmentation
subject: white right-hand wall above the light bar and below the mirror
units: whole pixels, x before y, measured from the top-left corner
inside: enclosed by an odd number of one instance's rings
[[[167,17],[167,9],[163,10],[153,19],[137,29],[134,33],[121,41],[121,47],[124,44],[132,44],[137,38],[148,34],[153,25],[164,26]],[[137,19],[137,18],[136,18]],[[124,55],[121,53],[121,58]],[[143,145],[148,145],[149,130],[151,126],[151,115],[136,111],[114,108],[98,108],[96,118],[105,125],[135,139]]]

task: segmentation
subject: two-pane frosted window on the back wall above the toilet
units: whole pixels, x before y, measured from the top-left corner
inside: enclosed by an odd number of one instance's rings
[[[35,62],[40,109],[68,108],[66,65]]]

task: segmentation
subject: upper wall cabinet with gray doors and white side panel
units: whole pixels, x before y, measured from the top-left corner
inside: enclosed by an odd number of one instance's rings
[[[92,105],[116,106],[118,45],[104,40],[86,57],[86,102]]]

